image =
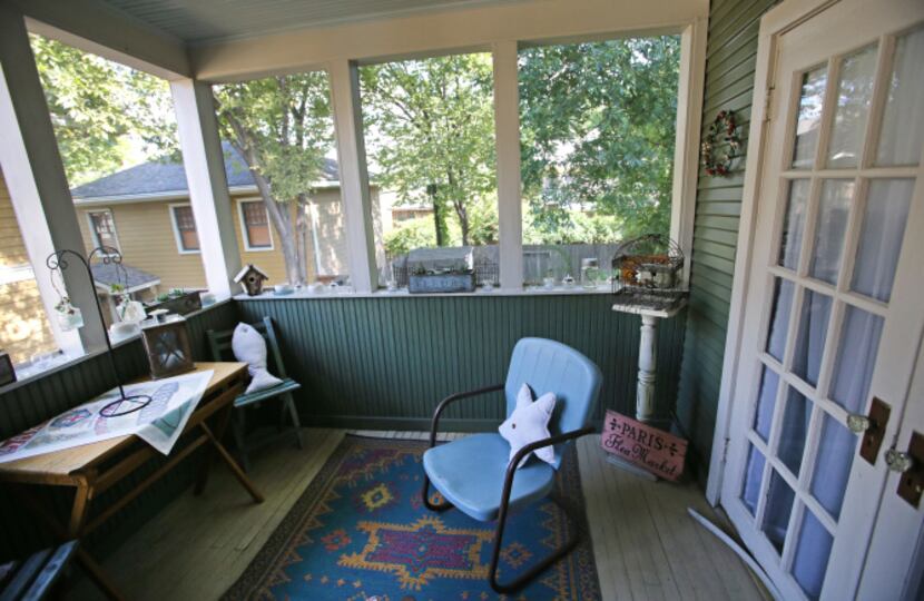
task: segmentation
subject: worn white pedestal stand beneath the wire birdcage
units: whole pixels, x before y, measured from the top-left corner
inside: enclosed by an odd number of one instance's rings
[[[639,315],[641,317],[641,337],[639,339],[639,375],[638,386],[636,387],[636,420],[653,425],[655,427],[665,425],[659,423],[661,420],[659,420],[658,411],[655,406],[655,382],[657,381],[658,374],[658,319],[668,319],[674,317],[686,306],[686,297],[681,298],[678,303],[667,309],[650,309],[641,306],[621,304],[612,306],[612,311]],[[636,475],[640,475],[652,481],[658,480],[658,476],[631,463],[625,462],[616,455],[608,453],[607,461],[617,467],[631,472]]]

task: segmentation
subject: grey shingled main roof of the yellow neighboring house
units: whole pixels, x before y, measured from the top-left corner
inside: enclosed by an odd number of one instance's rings
[[[254,178],[237,150],[228,142],[222,142],[225,151],[225,175],[232,188],[254,186]],[[321,178],[338,181],[337,161],[325,158]],[[108,198],[114,196],[158,195],[188,193],[186,171],[183,162],[151,160],[129,167],[110,176],[101,177],[70,190],[75,199]]]

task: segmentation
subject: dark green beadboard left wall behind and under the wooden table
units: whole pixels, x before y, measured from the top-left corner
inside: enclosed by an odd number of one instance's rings
[[[188,331],[193,355],[197,359],[209,359],[205,332],[209,328],[234,327],[237,323],[237,307],[234,302],[225,303],[188,318]],[[115,351],[116,365],[122,380],[127,381],[148,373],[148,363],[140,339],[120,345]],[[105,354],[89,356],[82,361],[50,372],[30,382],[12,385],[0,393],[0,440],[18,434],[75,405],[79,405],[116,385],[109,359]],[[180,445],[183,442],[179,443]],[[89,536],[88,544],[95,552],[105,554],[136,530],[148,518],[175,495],[183,492],[193,481],[193,467],[198,455],[194,453],[158,481],[122,511],[118,512]],[[94,503],[94,511],[101,511],[110,502],[131,490],[151,474],[163,460],[155,459],[147,465],[106,491]],[[43,486],[42,489],[47,489]],[[10,497],[0,485],[0,563],[13,558],[23,558],[31,551],[51,543],[49,533],[23,508]],[[72,489],[39,491],[48,493],[45,501],[67,523],[72,499]]]

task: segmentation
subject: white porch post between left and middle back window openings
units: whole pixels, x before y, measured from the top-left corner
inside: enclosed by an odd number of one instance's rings
[[[357,293],[368,293],[379,287],[379,270],[360,105],[360,73],[356,65],[346,59],[333,61],[327,72],[331,77],[341,196],[346,218],[350,280]]]

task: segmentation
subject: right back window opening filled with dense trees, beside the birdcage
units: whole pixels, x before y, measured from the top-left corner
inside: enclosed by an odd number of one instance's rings
[[[608,288],[625,239],[669,235],[680,39],[519,52],[523,279]]]

